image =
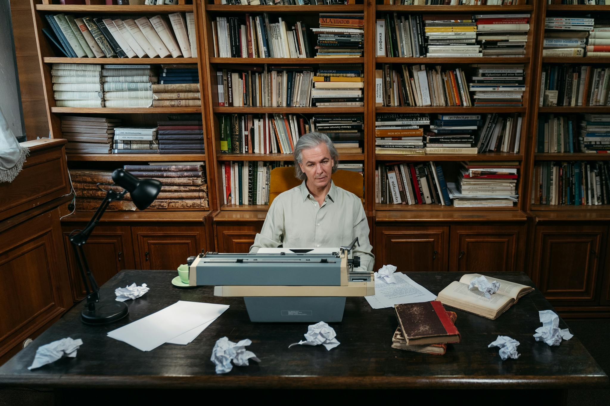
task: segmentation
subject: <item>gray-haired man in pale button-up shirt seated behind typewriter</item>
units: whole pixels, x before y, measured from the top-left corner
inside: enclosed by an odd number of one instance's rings
[[[367,216],[362,201],[331,180],[339,153],[323,133],[307,133],[295,146],[295,176],[303,183],[278,195],[256,234],[251,253],[259,248],[340,247],[358,237],[361,268],[373,270],[375,256],[368,242]]]

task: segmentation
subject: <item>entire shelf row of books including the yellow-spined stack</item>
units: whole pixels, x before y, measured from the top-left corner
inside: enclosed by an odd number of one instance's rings
[[[378,57],[525,55],[529,13],[386,14],[376,24]]]

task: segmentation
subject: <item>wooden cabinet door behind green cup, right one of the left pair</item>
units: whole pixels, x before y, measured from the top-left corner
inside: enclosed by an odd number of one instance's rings
[[[138,269],[176,269],[207,247],[203,224],[134,226],[131,233]]]

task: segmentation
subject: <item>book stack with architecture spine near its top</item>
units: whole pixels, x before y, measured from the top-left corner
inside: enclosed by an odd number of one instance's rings
[[[474,133],[481,114],[439,114],[426,133],[426,153],[476,153]]]

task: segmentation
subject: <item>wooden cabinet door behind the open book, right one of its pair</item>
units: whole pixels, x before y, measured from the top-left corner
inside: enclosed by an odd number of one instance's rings
[[[449,270],[461,273],[522,271],[524,248],[524,226],[451,226]]]

